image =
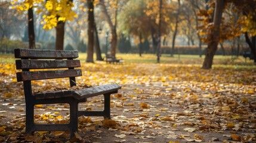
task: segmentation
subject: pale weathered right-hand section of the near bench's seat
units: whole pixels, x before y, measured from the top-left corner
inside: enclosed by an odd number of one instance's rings
[[[121,88],[122,86],[116,83],[109,84],[109,85],[100,85],[100,86],[95,86],[93,88],[85,88],[78,91],[74,91],[73,96],[77,100],[81,100],[83,98],[89,98],[89,97],[94,97],[101,94],[107,94],[110,92],[118,91],[118,89],[121,89]]]

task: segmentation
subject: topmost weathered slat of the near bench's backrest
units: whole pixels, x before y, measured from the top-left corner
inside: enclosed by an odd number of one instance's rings
[[[32,59],[63,59],[78,58],[78,51],[50,50],[50,49],[14,49],[15,58]]]

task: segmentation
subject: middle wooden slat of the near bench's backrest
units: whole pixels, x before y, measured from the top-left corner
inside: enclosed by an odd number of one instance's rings
[[[79,60],[16,60],[16,69],[55,69],[81,67]]]

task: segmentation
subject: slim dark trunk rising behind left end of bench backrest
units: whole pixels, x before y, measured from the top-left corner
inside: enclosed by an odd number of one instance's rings
[[[29,32],[29,49],[35,49],[35,30],[34,30],[34,18],[33,18],[33,8],[29,8],[28,11],[28,32]]]

